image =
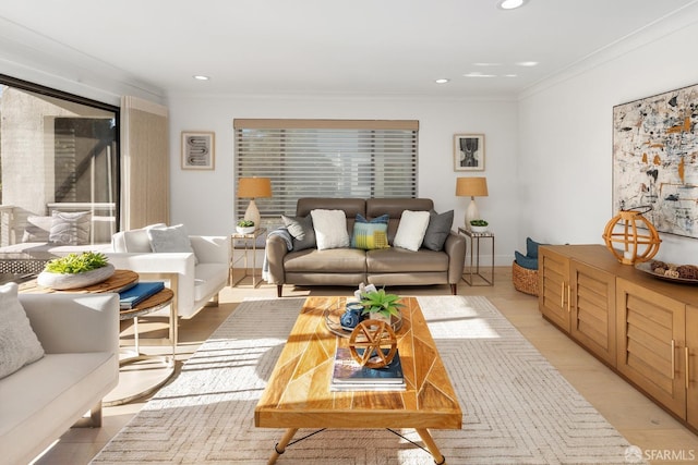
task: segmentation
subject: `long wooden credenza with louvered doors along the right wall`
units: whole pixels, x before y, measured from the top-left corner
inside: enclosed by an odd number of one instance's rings
[[[698,286],[622,265],[602,245],[541,246],[539,308],[698,431]]]

